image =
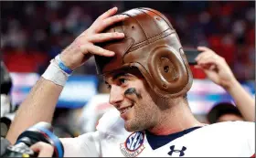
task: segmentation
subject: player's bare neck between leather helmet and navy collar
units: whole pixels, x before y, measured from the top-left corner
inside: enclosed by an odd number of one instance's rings
[[[160,110],[156,126],[148,131],[155,135],[168,135],[192,127],[203,126],[190,111],[187,101],[181,100],[170,100],[168,108]]]

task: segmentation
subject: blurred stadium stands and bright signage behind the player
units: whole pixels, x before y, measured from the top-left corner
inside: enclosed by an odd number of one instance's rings
[[[112,6],[118,6],[119,12],[133,7],[152,7],[161,11],[176,28],[183,47],[212,48],[226,58],[236,78],[255,96],[253,1],[1,1],[1,54],[14,81],[11,93],[14,109],[26,98],[48,67],[49,60]],[[200,121],[206,121],[205,114],[216,102],[232,99],[225,90],[206,79],[201,70],[191,68],[195,80],[188,93],[189,105]],[[86,126],[86,121],[80,120],[100,117],[95,113],[85,116],[84,110],[92,97],[101,93],[106,91],[96,76],[91,58],[70,77],[59,98],[53,123],[61,126],[60,131],[66,129],[73,135],[86,132],[82,127]],[[105,101],[102,99],[95,104]],[[101,110],[108,108],[101,104]],[[61,134],[63,132],[59,132]]]

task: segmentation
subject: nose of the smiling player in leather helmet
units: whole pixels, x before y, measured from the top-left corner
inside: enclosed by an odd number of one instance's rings
[[[109,102],[113,105],[113,106],[117,106],[117,104],[119,102],[121,102],[123,100],[123,90],[121,87],[116,86],[116,85],[112,85],[112,90],[110,93],[110,100]],[[116,107],[117,108],[117,107]]]

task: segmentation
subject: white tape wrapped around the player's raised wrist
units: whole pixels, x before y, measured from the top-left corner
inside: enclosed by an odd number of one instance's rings
[[[58,64],[56,63],[56,61],[54,61],[54,59],[50,61],[50,65],[48,66],[45,73],[42,75],[44,79],[52,81],[55,84],[63,87],[69,76],[70,75],[68,73],[64,72],[61,68],[59,68]]]

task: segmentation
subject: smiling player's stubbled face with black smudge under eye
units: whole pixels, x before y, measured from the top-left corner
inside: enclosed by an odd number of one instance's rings
[[[142,131],[156,124],[159,110],[149,88],[137,68],[118,70],[105,76],[110,89],[110,103],[120,111],[128,132]]]

